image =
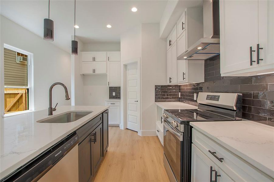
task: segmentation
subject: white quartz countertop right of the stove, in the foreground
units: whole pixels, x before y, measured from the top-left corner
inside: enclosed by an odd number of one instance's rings
[[[190,122],[190,125],[274,178],[274,127],[253,121]]]

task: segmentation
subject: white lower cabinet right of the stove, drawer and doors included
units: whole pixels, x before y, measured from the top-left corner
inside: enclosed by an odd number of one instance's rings
[[[273,178],[196,129],[192,129],[191,160],[193,182],[273,181]]]

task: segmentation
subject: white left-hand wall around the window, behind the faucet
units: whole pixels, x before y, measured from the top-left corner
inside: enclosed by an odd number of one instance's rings
[[[62,82],[68,87],[71,95],[71,56],[70,53],[56,47],[52,43],[33,34],[20,25],[1,15],[1,113],[4,112],[4,71],[3,45],[8,44],[16,48],[33,53],[34,68],[34,106],[35,110],[47,109],[49,88],[54,82]],[[41,29],[43,31],[43,29]],[[53,89],[53,105],[71,105],[71,100],[65,100],[64,89],[55,86]]]

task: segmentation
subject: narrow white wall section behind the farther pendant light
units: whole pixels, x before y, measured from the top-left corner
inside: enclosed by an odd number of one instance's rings
[[[74,40],[74,35],[71,35],[71,40]],[[80,75],[81,66],[81,51],[84,44],[76,37],[78,41],[78,55],[71,55],[71,105],[84,105],[84,75]]]

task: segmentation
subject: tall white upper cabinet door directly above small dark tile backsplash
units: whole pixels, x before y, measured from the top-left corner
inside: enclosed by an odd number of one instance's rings
[[[108,86],[120,86],[120,61],[109,61],[107,63]]]

